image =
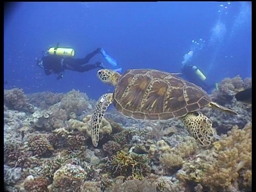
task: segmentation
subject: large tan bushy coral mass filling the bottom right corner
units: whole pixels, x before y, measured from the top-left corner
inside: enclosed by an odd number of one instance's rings
[[[178,177],[183,181],[201,183],[211,191],[239,190],[251,187],[252,171],[252,126],[244,129],[234,127],[214,143],[210,151],[202,151],[196,159],[183,164]]]

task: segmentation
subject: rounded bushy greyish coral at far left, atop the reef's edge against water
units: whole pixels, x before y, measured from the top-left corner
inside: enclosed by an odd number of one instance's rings
[[[28,99],[22,89],[4,90],[4,103],[10,109],[20,110],[27,105],[27,101]]]

